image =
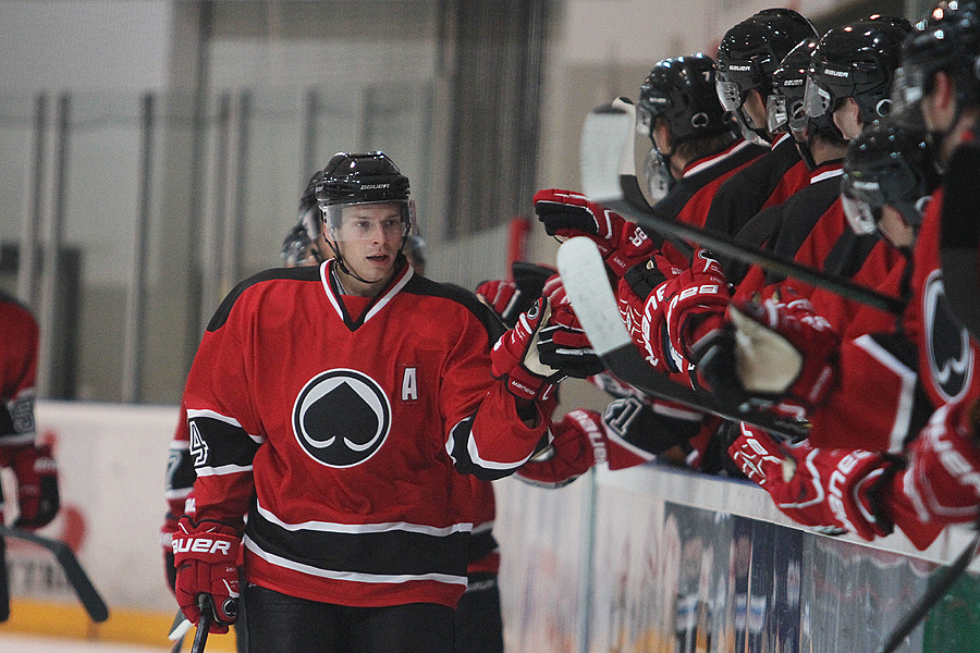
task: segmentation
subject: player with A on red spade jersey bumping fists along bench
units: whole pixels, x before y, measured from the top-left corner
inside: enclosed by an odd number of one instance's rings
[[[535,452],[562,352],[587,343],[540,300],[493,345],[486,307],[415,275],[408,182],[384,155],[336,155],[317,197],[333,258],[240,284],[188,375],[179,602],[196,621],[211,595],[226,628],[244,547],[249,650],[451,651],[473,519],[458,472],[500,478]]]

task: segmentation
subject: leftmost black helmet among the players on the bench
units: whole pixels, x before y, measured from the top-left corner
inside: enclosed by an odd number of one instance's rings
[[[653,123],[666,120],[674,143],[727,132],[731,119],[718,100],[714,60],[700,52],[664,59],[640,86],[637,112],[652,139]]]

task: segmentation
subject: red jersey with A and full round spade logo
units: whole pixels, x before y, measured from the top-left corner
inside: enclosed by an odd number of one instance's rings
[[[185,390],[197,519],[247,513],[262,587],[455,605],[476,500],[453,456],[509,473],[546,427],[491,377],[475,297],[408,267],[372,300],[341,296],[330,264],[259,274],[208,325]]]

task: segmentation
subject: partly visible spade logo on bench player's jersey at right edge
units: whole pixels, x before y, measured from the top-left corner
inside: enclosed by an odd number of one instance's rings
[[[970,383],[973,353],[966,329],[950,308],[942,272],[934,270],[922,292],[926,347],[932,387],[945,402],[963,396]]]

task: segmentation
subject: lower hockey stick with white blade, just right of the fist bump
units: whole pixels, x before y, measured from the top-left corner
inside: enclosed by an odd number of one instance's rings
[[[761,411],[736,411],[722,406],[713,395],[684,387],[654,370],[640,355],[620,317],[596,244],[586,237],[571,238],[559,247],[558,268],[572,308],[609,370],[638,390],[700,411],[736,422],[748,422],[786,439],[805,438],[806,422],[777,418]]]

